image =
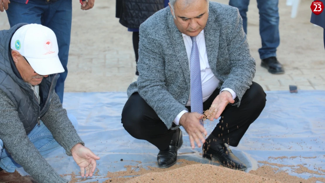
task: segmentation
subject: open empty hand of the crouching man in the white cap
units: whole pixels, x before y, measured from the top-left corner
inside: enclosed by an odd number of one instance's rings
[[[93,176],[96,169],[96,160],[99,160],[99,157],[81,144],[73,146],[71,153],[74,161],[80,166],[81,176],[85,176],[85,170],[86,177]]]

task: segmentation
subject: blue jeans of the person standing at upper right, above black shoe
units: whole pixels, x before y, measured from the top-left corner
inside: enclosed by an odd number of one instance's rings
[[[257,0],[260,14],[260,36],[262,47],[258,50],[260,59],[276,57],[280,44],[279,35],[279,0]],[[247,34],[247,15],[249,0],[229,0],[229,5],[237,7],[243,20],[243,29]]]

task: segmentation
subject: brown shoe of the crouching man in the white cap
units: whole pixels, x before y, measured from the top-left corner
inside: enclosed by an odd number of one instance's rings
[[[8,173],[4,170],[0,172],[0,183],[37,183],[30,177],[21,176],[17,170],[14,173]]]

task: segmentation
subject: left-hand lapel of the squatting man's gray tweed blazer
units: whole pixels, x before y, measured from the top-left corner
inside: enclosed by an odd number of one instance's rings
[[[174,17],[173,15],[169,12],[168,13],[168,27],[169,27],[169,35],[172,41],[172,46],[175,49],[175,53],[177,55],[178,61],[181,65],[181,68],[183,70],[185,80],[190,84],[190,73],[189,73],[189,62],[188,62],[188,57],[187,57],[187,52],[186,52],[186,47],[184,44],[183,36],[182,33],[179,32],[177,29],[175,22],[174,22]]]

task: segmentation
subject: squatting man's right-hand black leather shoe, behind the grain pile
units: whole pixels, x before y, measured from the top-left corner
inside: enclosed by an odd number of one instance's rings
[[[230,150],[228,144],[212,144],[215,143],[213,140],[214,136],[211,134],[205,141],[202,147],[203,158],[216,159],[222,165],[235,169],[235,170],[246,170],[246,165],[242,163]],[[210,142],[210,143],[209,143]]]

